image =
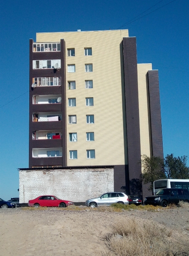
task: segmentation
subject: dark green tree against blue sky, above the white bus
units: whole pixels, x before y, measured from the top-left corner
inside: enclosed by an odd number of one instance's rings
[[[166,155],[164,158],[164,170],[167,178],[188,179],[189,168],[187,167],[187,156],[174,157],[174,154]]]

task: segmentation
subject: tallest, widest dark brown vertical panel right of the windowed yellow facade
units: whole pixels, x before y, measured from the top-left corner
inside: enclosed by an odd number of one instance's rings
[[[123,38],[124,85],[127,125],[127,149],[129,165],[130,193],[131,184],[140,184],[141,146],[139,128],[138,75],[136,59],[136,38]],[[142,186],[139,190],[142,190]]]

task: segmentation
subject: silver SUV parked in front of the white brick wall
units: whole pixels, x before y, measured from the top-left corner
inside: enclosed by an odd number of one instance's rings
[[[100,205],[110,205],[114,203],[128,204],[129,200],[126,194],[123,192],[108,192],[102,194],[98,198],[92,198],[86,200],[86,206],[97,207]]]

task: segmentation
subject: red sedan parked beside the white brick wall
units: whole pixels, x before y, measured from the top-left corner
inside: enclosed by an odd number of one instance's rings
[[[46,206],[46,207],[67,207],[69,205],[73,205],[74,203],[67,200],[61,200],[54,195],[42,195],[37,197],[33,200],[29,200],[28,206],[29,207],[39,207],[39,206]]]

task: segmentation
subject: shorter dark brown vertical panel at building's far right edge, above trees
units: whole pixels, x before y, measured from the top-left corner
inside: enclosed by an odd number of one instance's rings
[[[162,123],[158,70],[148,71],[152,155],[163,158]]]

